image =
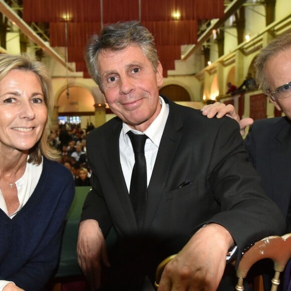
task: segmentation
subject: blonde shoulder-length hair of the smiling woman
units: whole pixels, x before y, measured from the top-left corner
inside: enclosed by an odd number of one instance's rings
[[[50,132],[52,130],[51,117],[54,110],[54,96],[51,76],[47,67],[42,62],[37,61],[35,57],[32,57],[28,54],[0,54],[0,81],[11,70],[30,71],[37,75],[41,83],[45,104],[48,110],[48,117],[44,131],[40,140],[35,144],[32,149],[30,149],[30,158],[28,162],[39,165],[42,161],[42,156],[44,156],[48,160],[59,160],[60,153],[56,149],[52,148],[48,141]]]

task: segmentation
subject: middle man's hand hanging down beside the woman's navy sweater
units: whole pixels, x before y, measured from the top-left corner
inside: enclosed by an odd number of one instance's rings
[[[105,239],[96,220],[87,219],[80,223],[77,255],[91,290],[96,290],[101,284],[102,264],[110,266]]]

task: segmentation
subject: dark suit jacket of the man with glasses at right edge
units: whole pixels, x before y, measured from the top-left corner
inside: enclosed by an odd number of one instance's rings
[[[266,195],[279,206],[290,232],[291,121],[287,117],[256,120],[245,145]]]

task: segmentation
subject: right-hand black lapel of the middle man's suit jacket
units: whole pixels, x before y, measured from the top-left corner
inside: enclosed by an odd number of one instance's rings
[[[166,100],[167,102],[167,100]],[[179,129],[183,126],[177,113],[177,105],[169,101],[169,116],[162,135],[160,147],[147,191],[147,206],[143,229],[148,230],[155,217],[160,200],[165,192],[171,164],[181,140]]]

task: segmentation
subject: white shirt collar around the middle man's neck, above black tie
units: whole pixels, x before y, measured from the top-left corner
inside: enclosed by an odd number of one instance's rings
[[[129,137],[126,133],[130,130],[137,134],[141,133],[147,134],[148,137],[152,140],[152,142],[156,144],[157,147],[159,147],[164,132],[164,128],[167,122],[167,118],[169,115],[169,105],[166,104],[165,100],[161,96],[159,96],[159,100],[160,103],[162,104],[161,111],[159,115],[156,117],[156,119],[151,123],[151,125],[147,129],[145,129],[144,132],[132,129],[126,123],[122,122],[122,135],[127,147],[129,147],[128,144],[130,143],[128,141]]]

